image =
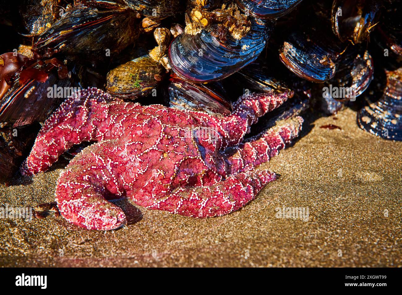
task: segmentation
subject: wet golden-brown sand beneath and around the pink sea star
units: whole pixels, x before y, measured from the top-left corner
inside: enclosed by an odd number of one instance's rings
[[[262,165],[279,179],[238,212],[193,219],[123,200],[130,222],[113,232],[53,214],[0,219],[0,266],[400,267],[402,142],[359,129],[350,109],[336,117],[304,126],[303,138]],[[64,165],[0,185],[0,205],[53,201]],[[283,206],[308,207],[308,221],[277,218]]]

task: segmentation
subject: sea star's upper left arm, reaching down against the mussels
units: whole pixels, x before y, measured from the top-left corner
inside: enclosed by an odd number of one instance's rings
[[[105,92],[90,88],[63,102],[43,124],[21,173],[33,175],[45,171],[74,144],[113,138],[110,110],[120,102],[107,103],[112,100]]]

